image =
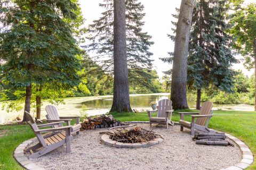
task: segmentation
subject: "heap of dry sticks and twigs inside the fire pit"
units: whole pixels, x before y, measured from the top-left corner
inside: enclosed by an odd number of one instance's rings
[[[110,139],[117,142],[123,143],[141,143],[154,140],[155,138],[162,138],[160,134],[157,134],[153,131],[143,129],[139,126],[136,126],[132,129],[122,128],[113,132],[100,132],[100,134],[108,134]]]

